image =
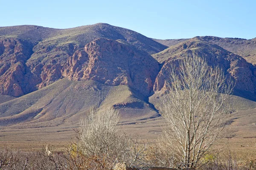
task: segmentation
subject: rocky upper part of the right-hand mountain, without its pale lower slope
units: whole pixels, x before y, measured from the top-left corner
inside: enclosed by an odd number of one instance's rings
[[[203,56],[207,63],[214,67],[219,65],[224,74],[227,77],[231,77],[236,80],[235,89],[239,91],[249,91],[254,93],[256,91],[256,77],[255,67],[246,62],[242,57],[224,50],[218,45],[211,45],[207,42],[194,38],[188,40],[180,45],[171,47],[163,54],[166,58],[166,54],[169,53],[169,58],[163,62],[163,67],[157,75],[154,83],[154,91],[166,90],[166,79],[168,79],[169,69],[171,65],[177,64],[179,58],[192,54],[192,50],[195,55]],[[157,56],[160,59],[160,55]]]

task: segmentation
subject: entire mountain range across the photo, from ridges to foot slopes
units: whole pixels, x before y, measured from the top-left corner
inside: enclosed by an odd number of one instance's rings
[[[235,110],[256,107],[256,67],[243,56],[256,47],[240,55],[235,49],[247,40],[224,40],[156,40],[104,23],[0,27],[0,126],[73,126],[104,106],[118,109],[123,123],[156,118],[170,66],[192,52],[236,81]]]

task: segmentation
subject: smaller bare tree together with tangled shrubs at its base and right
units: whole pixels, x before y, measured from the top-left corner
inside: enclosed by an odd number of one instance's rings
[[[148,143],[132,139],[119,127],[119,112],[113,108],[94,108],[81,119],[76,148],[80,147],[87,169],[111,170],[117,163],[128,167],[143,164]]]

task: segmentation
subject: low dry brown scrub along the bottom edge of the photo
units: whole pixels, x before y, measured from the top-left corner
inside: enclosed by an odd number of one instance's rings
[[[142,145],[141,145],[142,146]],[[141,149],[142,147],[140,147]],[[73,151],[76,150],[73,146]],[[135,149],[136,150],[136,149]],[[0,148],[0,170],[100,170],[95,166],[95,160],[99,158],[89,158],[83,156],[81,153],[70,152],[67,150],[64,155],[47,155],[45,151],[41,152],[22,152],[12,151],[9,148]],[[136,151],[137,152],[137,151]],[[138,153],[138,152],[137,152]],[[117,163],[115,165],[116,170],[149,170],[154,167],[155,170],[164,170],[163,167],[170,167],[172,162],[168,162],[165,156],[168,152],[164,152],[161,148],[149,147],[149,149],[141,156],[147,158],[147,162],[151,164],[143,164],[140,168],[130,168],[128,164]],[[131,156],[131,155],[129,155]],[[135,156],[135,154],[133,154]],[[148,159],[150,158],[151,159]],[[140,157],[140,156],[139,156]],[[156,159],[153,159],[155,157]],[[131,157],[132,158],[132,157]],[[155,161],[153,161],[155,160]],[[165,160],[165,161],[163,161]],[[230,152],[224,156],[208,155],[204,158],[207,161],[200,170],[255,170],[256,159],[247,160],[244,164],[237,164],[236,155]],[[167,162],[167,163],[166,163]],[[157,168],[162,167],[162,168]],[[107,168],[106,168],[107,169]],[[198,170],[199,170],[198,169]],[[114,168],[113,168],[114,170]],[[167,170],[167,169],[166,169]]]

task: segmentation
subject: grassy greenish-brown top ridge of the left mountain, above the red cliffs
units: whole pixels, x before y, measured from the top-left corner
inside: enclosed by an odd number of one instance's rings
[[[97,38],[119,40],[141,51],[154,54],[166,48],[154,40],[135,31],[111,26],[106,23],[80,26],[68,29],[46,28],[42,26],[9,26],[0,27],[0,39],[20,38],[31,40],[35,44],[40,42],[35,49],[65,46],[65,44],[78,45],[80,48]]]

